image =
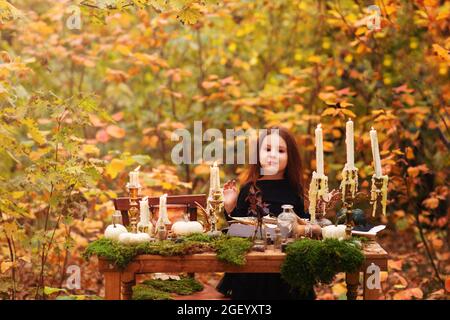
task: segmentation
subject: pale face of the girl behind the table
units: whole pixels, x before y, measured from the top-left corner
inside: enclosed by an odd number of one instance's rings
[[[261,175],[276,175],[284,172],[288,162],[286,141],[278,134],[264,137],[259,149]]]

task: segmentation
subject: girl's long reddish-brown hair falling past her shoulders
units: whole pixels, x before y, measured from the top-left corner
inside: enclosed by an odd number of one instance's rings
[[[263,130],[262,133],[257,138],[257,163],[249,164],[247,169],[241,174],[239,180],[241,185],[247,183],[256,183],[256,181],[261,177],[261,163],[259,161],[259,147],[260,142],[264,138],[271,134],[278,133],[280,137],[286,141],[287,153],[288,153],[288,163],[284,171],[284,178],[289,181],[290,186],[295,190],[296,194],[304,197],[304,179],[303,179],[303,165],[300,157],[300,151],[298,149],[297,142],[295,141],[294,135],[286,128],[281,126],[270,127],[267,130]]]

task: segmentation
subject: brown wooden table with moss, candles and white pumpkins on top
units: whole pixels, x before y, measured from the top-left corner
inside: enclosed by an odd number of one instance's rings
[[[363,273],[363,299],[380,299],[381,289],[371,289],[367,286],[367,267],[372,263],[387,271],[388,254],[375,241],[366,243],[363,248],[365,261],[360,271],[346,274],[347,299],[355,300],[358,294],[360,274]],[[163,257],[159,255],[139,255],[131,261],[124,270],[119,270],[109,261],[100,258],[99,270],[105,277],[106,300],[129,300],[132,297],[132,287],[136,284],[136,275],[154,272],[265,272],[278,273],[286,257],[285,253],[268,249],[265,252],[250,252],[244,266],[233,266],[216,259],[215,253],[202,253],[189,256]]]

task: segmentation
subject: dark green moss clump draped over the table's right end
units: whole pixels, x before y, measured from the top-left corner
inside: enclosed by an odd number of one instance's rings
[[[355,272],[364,262],[358,241],[302,239],[286,248],[281,276],[300,293],[317,283],[330,283],[339,272]]]

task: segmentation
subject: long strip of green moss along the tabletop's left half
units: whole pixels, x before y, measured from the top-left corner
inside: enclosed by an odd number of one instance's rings
[[[96,255],[113,262],[124,269],[133,258],[140,254],[162,256],[190,255],[203,252],[217,252],[219,260],[235,264],[245,264],[245,254],[251,248],[248,239],[221,236],[218,238],[204,234],[193,234],[177,241],[146,242],[138,245],[123,245],[110,239],[91,242],[83,253],[85,259]]]

